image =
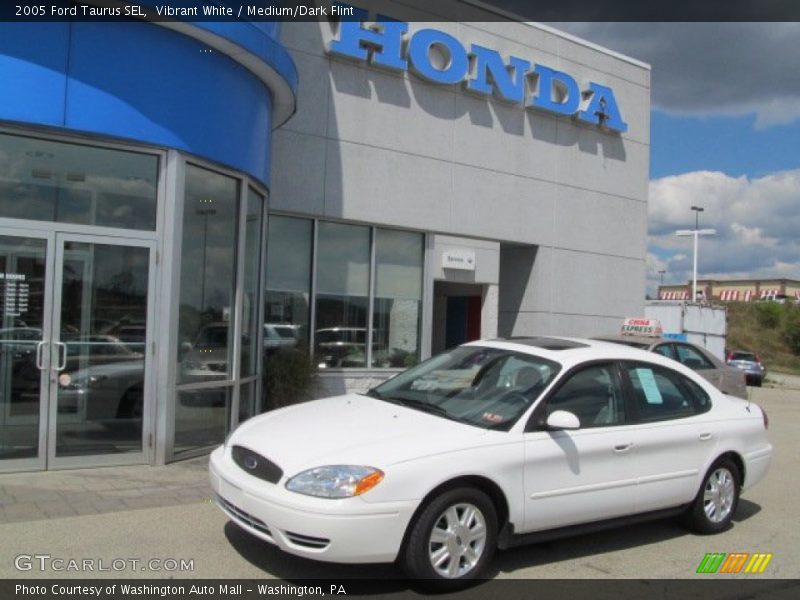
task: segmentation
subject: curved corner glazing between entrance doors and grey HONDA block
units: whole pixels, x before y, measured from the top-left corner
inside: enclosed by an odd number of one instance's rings
[[[242,196],[242,185],[216,171],[186,167],[176,454],[222,442],[232,426],[260,408],[265,202],[251,187]]]

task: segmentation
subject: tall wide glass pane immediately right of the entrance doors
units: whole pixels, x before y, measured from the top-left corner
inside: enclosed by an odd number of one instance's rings
[[[239,185],[233,177],[186,165],[176,453],[221,442],[229,424]]]

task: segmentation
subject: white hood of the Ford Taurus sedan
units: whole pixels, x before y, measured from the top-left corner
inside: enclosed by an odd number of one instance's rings
[[[503,432],[348,394],[254,417],[234,432],[229,444],[258,452],[291,477],[323,465],[384,468],[497,435]]]

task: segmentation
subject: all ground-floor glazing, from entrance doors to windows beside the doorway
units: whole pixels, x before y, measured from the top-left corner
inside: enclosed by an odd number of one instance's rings
[[[422,234],[267,219],[256,182],[177,156],[0,133],[0,471],[205,452],[273,405],[278,352],[418,362]]]

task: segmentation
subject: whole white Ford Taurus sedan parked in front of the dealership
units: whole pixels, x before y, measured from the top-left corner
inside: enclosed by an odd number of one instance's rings
[[[282,550],[397,560],[454,588],[496,548],[682,513],[728,527],[767,416],[686,367],[605,342],[466,344],[365,395],[250,419],[213,452],[223,511]],[[585,530],[585,528],[583,528]]]

